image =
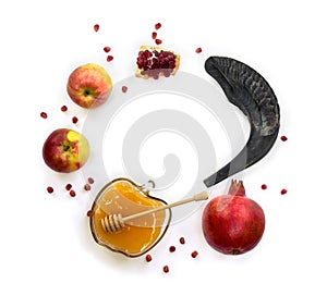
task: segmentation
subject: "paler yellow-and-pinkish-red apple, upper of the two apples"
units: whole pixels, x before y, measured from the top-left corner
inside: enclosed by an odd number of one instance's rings
[[[105,103],[112,90],[109,74],[98,64],[88,63],[75,69],[69,76],[66,91],[78,106],[90,109]]]

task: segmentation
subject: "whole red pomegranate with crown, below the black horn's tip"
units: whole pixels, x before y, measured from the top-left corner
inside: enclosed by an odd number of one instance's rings
[[[211,199],[205,207],[202,229],[207,243],[227,255],[253,249],[265,231],[261,206],[245,196],[242,181],[232,181],[228,195]]]

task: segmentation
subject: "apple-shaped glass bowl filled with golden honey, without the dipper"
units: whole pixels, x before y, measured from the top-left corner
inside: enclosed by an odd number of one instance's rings
[[[93,205],[93,236],[99,245],[113,251],[129,257],[141,256],[153,248],[167,231],[171,218],[169,209],[130,220],[117,232],[106,232],[101,221],[110,214],[129,217],[164,205],[164,200],[149,196],[130,180],[114,180],[105,186]]]

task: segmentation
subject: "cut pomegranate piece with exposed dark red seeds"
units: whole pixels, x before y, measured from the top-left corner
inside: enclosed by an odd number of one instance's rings
[[[142,46],[136,60],[136,76],[142,78],[174,75],[180,65],[180,55],[172,50]]]

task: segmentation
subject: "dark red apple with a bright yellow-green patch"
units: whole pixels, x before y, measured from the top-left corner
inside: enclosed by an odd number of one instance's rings
[[[87,139],[70,128],[53,131],[46,139],[43,157],[56,172],[71,173],[82,168],[89,156]]]

